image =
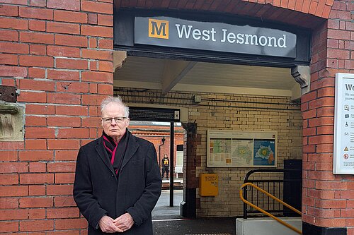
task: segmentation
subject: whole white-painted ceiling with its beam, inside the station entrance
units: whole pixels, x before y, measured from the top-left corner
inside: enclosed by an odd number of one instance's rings
[[[221,92],[229,94],[298,97],[299,84],[290,68],[171,61],[128,56],[115,71],[114,86],[164,92]]]

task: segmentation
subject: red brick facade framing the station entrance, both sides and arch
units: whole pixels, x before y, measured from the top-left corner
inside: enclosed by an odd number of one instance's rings
[[[314,32],[311,92],[302,98],[303,220],[354,234],[353,176],[331,174],[334,76],[353,72],[351,1],[116,2],[249,14],[310,28],[321,20],[299,12],[329,14]],[[16,85],[25,106],[25,141],[0,142],[1,234],[85,234],[86,220],[72,200],[74,161],[79,147],[101,134],[98,104],[113,93],[112,25],[113,0],[0,0],[0,80]]]

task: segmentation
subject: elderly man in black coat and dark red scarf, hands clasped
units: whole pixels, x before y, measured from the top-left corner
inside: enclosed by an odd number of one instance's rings
[[[152,235],[151,212],[161,194],[152,143],[127,130],[129,108],[120,97],[101,104],[103,134],[80,148],[74,200],[89,222],[89,235]]]

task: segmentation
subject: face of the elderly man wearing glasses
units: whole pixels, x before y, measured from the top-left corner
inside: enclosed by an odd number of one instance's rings
[[[102,111],[102,127],[105,133],[114,140],[119,140],[129,126],[129,119],[125,118],[122,121],[105,121],[105,118],[125,117],[124,108],[117,103],[109,103]]]

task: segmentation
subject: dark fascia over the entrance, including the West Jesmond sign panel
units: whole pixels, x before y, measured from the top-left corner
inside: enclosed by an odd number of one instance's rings
[[[114,49],[130,56],[308,66],[311,30],[220,13],[115,8]]]

